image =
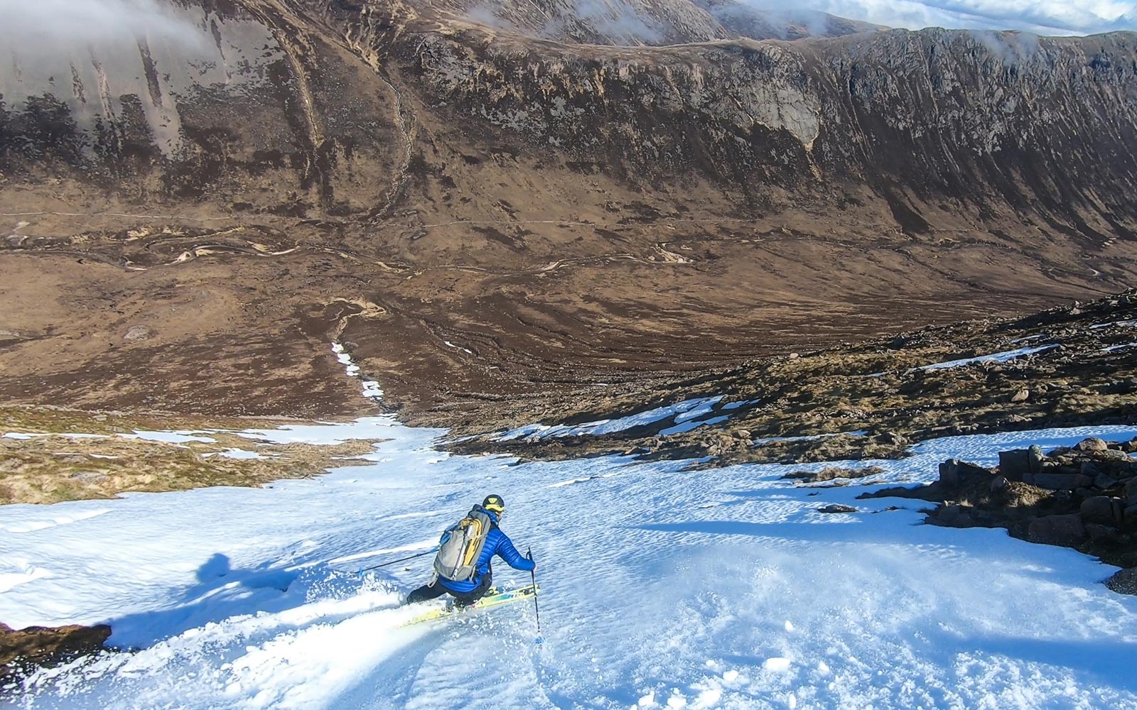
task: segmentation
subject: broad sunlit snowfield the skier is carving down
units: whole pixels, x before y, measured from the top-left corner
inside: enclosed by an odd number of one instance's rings
[[[109,623],[138,649],[41,671],[27,708],[1137,708],[1137,598],[1114,571],[999,529],[921,524],[920,501],[795,486],[803,466],[683,470],[622,457],[451,457],[391,418],[289,427],[385,438],[370,466],[262,488],[0,508],[0,620]],[[962,436],[880,466],[1137,427]],[[870,488],[877,486],[869,486]],[[488,493],[532,545],[528,604],[400,627],[430,549]],[[852,515],[818,508],[846,503]],[[898,510],[887,510],[898,506]],[[495,565],[500,583],[529,575]]]

